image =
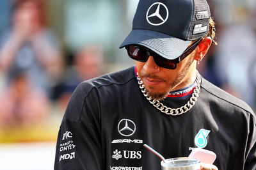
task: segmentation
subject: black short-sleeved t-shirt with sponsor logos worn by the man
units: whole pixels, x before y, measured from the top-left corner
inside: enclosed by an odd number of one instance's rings
[[[177,108],[189,96],[166,98]],[[243,101],[202,79],[196,104],[164,114],[143,96],[134,68],[82,82],[61,123],[54,169],[160,170],[161,159],[188,157],[193,148],[216,153],[220,170],[256,169],[255,114]]]

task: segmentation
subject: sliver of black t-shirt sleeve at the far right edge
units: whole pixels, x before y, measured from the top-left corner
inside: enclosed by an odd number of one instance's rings
[[[246,146],[246,160],[244,164],[245,170],[256,169],[256,121],[255,114],[250,117],[250,133],[248,135],[248,143]]]

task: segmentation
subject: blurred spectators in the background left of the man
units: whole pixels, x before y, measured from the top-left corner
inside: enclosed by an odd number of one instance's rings
[[[43,1],[16,1],[12,24],[1,32],[0,127],[35,125],[61,112],[76,86],[103,73],[103,50],[86,45],[66,62],[60,42],[45,26]]]

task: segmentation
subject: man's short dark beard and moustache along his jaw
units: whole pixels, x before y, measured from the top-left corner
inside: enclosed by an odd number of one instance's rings
[[[193,55],[191,55],[193,56]],[[189,58],[188,62],[186,63],[186,65],[184,66],[184,68],[182,68],[182,70],[180,70],[180,73],[177,77],[177,79],[175,79],[175,81],[173,81],[172,83],[169,83],[168,84],[168,90],[160,93],[160,92],[154,92],[152,91],[152,87],[148,87],[145,86],[145,89],[147,91],[147,95],[148,97],[151,97],[155,100],[164,100],[168,93],[170,93],[172,91],[172,89],[174,89],[175,87],[177,87],[182,81],[184,81],[184,77],[186,77],[186,74],[188,73],[188,69],[189,69],[189,66],[191,66],[191,64],[193,63],[194,61],[194,58]],[[164,81],[164,82],[167,82],[166,79],[163,79],[161,77],[158,77],[157,75],[155,75],[154,73],[145,73],[143,75],[140,75],[141,79],[142,78],[154,78],[154,79],[159,79],[161,81]],[[188,80],[187,80],[188,81]],[[184,81],[186,82],[186,81]]]

